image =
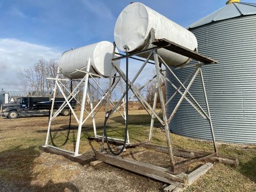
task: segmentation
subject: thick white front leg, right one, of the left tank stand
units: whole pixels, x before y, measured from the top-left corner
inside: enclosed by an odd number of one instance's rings
[[[87,68],[86,68],[87,72],[90,71],[90,67],[91,67],[91,59],[88,58],[88,60],[87,60]],[[79,151],[80,136],[81,136],[82,122],[83,122],[82,119],[83,119],[84,105],[86,104],[86,97],[87,97],[88,80],[89,80],[89,73],[86,74],[86,78],[85,78],[85,81],[84,81],[82,103],[81,103],[81,112],[80,112],[80,118],[79,118],[79,123],[78,123],[78,131],[77,131],[77,138],[76,138],[75,156],[78,156],[78,151]]]

